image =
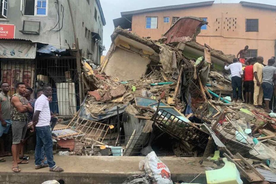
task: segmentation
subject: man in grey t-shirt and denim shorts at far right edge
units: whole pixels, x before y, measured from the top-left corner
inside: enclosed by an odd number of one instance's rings
[[[269,59],[267,66],[263,68],[263,91],[264,91],[264,102],[266,105],[266,112],[272,112],[269,109],[269,101],[273,95],[273,80],[276,79],[276,68],[272,66],[275,63],[274,59]]]

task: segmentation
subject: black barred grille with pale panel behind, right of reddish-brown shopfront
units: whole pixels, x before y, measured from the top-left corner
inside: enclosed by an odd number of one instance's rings
[[[77,63],[75,58],[36,59],[35,89],[48,84],[53,88],[50,110],[62,116],[72,116],[80,107]]]

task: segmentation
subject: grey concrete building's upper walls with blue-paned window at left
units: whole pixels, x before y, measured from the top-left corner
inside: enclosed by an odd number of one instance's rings
[[[70,0],[82,56],[100,63],[106,24],[99,0]],[[67,0],[0,0],[0,25],[15,25],[15,38],[72,47],[74,33]],[[67,43],[66,43],[67,41]]]

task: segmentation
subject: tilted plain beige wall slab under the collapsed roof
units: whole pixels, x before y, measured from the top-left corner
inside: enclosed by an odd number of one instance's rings
[[[149,62],[149,58],[116,47],[104,68],[104,72],[109,76],[118,77],[119,80],[136,80],[146,72]]]

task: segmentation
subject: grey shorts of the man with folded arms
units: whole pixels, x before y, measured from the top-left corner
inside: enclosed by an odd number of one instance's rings
[[[28,121],[12,120],[12,144],[19,144],[23,141],[28,129]]]

